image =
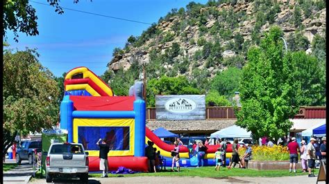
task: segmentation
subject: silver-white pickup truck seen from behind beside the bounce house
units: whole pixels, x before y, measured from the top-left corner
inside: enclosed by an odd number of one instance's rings
[[[53,143],[46,158],[46,181],[56,176],[78,176],[81,183],[88,182],[88,153],[83,145],[76,143]]]

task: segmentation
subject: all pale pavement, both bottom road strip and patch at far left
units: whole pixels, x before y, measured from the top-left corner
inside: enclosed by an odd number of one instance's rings
[[[6,160],[6,163],[15,163],[15,160]],[[3,183],[46,183],[44,178],[36,179],[30,178],[33,174],[32,165],[28,165],[27,161],[22,161],[22,165],[19,165],[15,169],[11,169],[8,172],[3,172]],[[78,178],[70,181],[57,180],[55,183],[80,183]],[[89,178],[88,183],[316,183],[317,177],[308,178],[304,176],[285,176],[276,178],[267,177],[226,177],[226,178],[201,178],[201,177],[179,177],[179,176],[135,176],[135,177],[111,177],[111,178]],[[325,183],[325,182],[319,182]]]

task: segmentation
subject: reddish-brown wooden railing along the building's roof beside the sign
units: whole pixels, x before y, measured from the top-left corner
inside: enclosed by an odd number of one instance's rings
[[[146,120],[155,120],[155,107],[146,109]],[[205,107],[206,120],[236,119],[233,107]],[[294,118],[326,118],[326,107],[301,107]]]

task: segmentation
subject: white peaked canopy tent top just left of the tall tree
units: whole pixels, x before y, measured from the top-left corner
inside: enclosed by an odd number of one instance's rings
[[[210,134],[210,138],[250,138],[251,131],[233,125]]]

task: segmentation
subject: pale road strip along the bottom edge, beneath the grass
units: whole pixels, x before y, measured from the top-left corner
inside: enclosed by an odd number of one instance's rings
[[[317,177],[285,176],[277,178],[265,177],[227,177],[227,178],[201,178],[201,177],[169,177],[169,176],[136,176],[136,177],[112,177],[112,178],[89,178],[89,183],[316,183]],[[33,179],[33,184],[46,183],[45,179]],[[55,181],[55,183],[79,183],[76,181]],[[325,183],[325,182],[319,182]]]

